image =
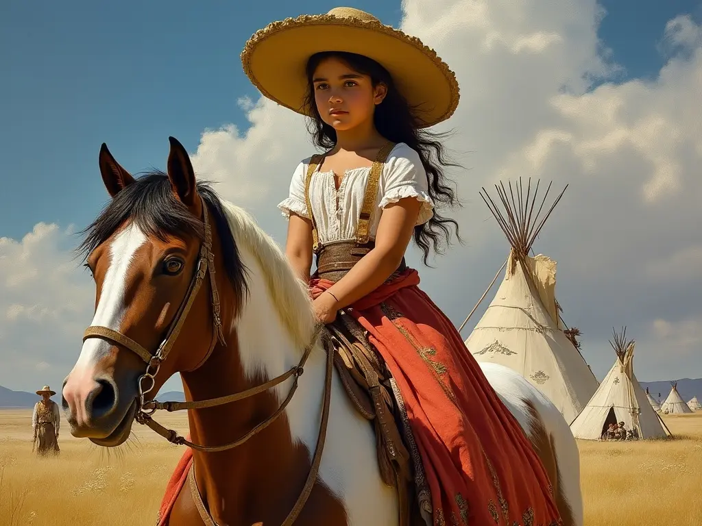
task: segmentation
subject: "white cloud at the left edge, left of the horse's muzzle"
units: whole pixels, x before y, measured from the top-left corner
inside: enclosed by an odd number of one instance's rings
[[[94,295],[74,245],[72,227],[46,223],[0,238],[0,385],[58,386],[77,357]]]

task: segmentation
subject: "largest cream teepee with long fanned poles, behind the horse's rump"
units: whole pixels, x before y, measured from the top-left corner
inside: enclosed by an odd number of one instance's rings
[[[513,190],[510,182],[508,195],[504,184],[496,185],[504,214],[484,188],[480,193],[511,249],[503,282],[465,345],[476,360],[500,363],[518,372],[550,398],[571,423],[595,393],[597,379],[564,333],[555,298],[556,262],[541,254],[529,257],[531,245],[565,189],[542,216],[551,185],[536,214],[538,182],[533,195],[531,179],[526,192],[521,178],[515,187]]]

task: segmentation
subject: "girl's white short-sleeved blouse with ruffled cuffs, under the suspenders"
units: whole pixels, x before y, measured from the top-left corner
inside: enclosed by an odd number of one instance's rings
[[[293,212],[310,219],[305,204],[305,177],[310,159],[308,157],[298,165],[290,182],[290,194],[278,205],[285,217],[290,217]],[[310,180],[310,203],[320,243],[324,245],[330,241],[355,239],[370,173],[370,167],[346,170],[337,191],[333,171],[320,172],[317,167]],[[380,210],[406,197],[417,198],[422,203],[416,224],[424,224],[431,219],[434,203],[429,196],[427,175],[419,154],[404,142],[399,142],[390,151],[380,175],[376,196],[378,205],[373,209],[369,222],[371,238],[376,236],[378,230]]]

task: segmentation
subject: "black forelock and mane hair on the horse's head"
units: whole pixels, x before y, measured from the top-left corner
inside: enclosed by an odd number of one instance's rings
[[[248,291],[246,268],[239,257],[239,249],[222,201],[209,182],[197,182],[197,191],[207,205],[211,222],[216,224],[227,278],[232,284],[237,302],[240,302]],[[168,175],[161,170],[146,172],[107,203],[97,219],[79,232],[83,241],[77,248],[78,254],[86,259],[125,222],[134,222],[144,234],[161,241],[166,241],[168,236],[182,237],[188,234],[200,241],[204,239],[201,220],[195,218],[173,195]]]

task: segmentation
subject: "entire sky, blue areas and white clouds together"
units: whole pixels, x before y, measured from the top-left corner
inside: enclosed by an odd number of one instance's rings
[[[408,2],[408,27],[461,82],[449,121],[456,135],[446,145],[465,152],[456,160],[470,169],[455,174],[467,206],[454,217],[466,243],[436,259],[435,269],[420,268],[422,288],[460,325],[507,251],[478,189],[522,175],[568,183],[534,250],[558,262],[557,297],[566,321],[583,330],[592,370],[600,378],[609,370],[611,326],[626,324],[637,338],[640,379],[702,377],[695,358],[702,350],[702,128],[690,110],[702,91],[702,2],[604,0],[597,37],[618,69],[585,95],[559,88],[580,86],[583,72],[609,71],[595,48],[592,0],[530,0],[516,10],[512,0]],[[58,385],[75,361],[95,292],[66,250],[77,237],[64,231],[85,227],[107,201],[102,142],[136,173],[164,167],[168,135],[191,154],[202,141],[199,173],[215,174],[220,194],[249,207],[284,242],[275,204],[309,144],[291,112],[262,104],[247,114],[239,106],[241,97],[259,97],[239,53],[267,22],[335,4],[241,4],[0,7],[0,385]],[[400,0],[345,4],[396,27],[402,16]],[[249,119],[256,126],[245,140],[230,130],[203,135],[230,123],[245,132]],[[19,241],[39,222],[60,231],[41,227],[22,245],[3,239]],[[418,264],[414,252],[410,264]]]

